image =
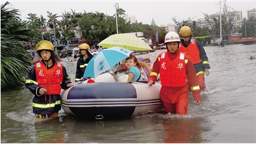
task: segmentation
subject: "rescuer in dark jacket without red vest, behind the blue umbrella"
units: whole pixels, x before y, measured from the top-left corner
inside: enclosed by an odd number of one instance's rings
[[[81,78],[84,76],[84,71],[86,69],[86,66],[90,62],[90,60],[93,58],[93,55],[89,52],[90,47],[86,43],[83,43],[78,46],[80,52],[80,57],[77,61],[76,65],[76,77],[75,82],[81,80]]]

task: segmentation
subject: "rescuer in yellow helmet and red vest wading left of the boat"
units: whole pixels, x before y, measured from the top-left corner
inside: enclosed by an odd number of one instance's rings
[[[68,89],[72,82],[50,41],[38,42],[36,52],[32,62],[35,66],[29,71],[25,82],[25,86],[35,95],[33,113],[36,119],[58,117],[61,89]]]

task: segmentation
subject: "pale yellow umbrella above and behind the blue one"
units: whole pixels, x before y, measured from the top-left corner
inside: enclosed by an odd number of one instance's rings
[[[98,45],[106,48],[122,47],[128,50],[152,50],[145,41],[129,34],[111,35]]]

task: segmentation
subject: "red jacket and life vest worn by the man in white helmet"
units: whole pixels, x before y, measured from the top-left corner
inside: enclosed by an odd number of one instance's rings
[[[183,62],[181,62],[181,60]],[[184,66],[181,66],[183,64]],[[170,68],[166,69],[166,66]],[[180,69],[179,74],[177,74],[178,69]],[[181,69],[183,70],[181,71]],[[158,55],[148,81],[152,80],[156,82],[159,73],[162,84],[160,92],[162,101],[166,103],[177,103],[177,101],[183,97],[188,99],[188,85],[191,87],[194,99],[201,99],[200,88],[196,82],[195,68],[188,55],[183,54],[183,56],[180,56],[179,49],[173,55],[171,55],[170,52],[163,52]],[[186,78],[189,81],[188,85],[186,85]],[[182,80],[182,82],[180,82],[180,80]],[[169,83],[169,85],[167,85],[167,83]]]

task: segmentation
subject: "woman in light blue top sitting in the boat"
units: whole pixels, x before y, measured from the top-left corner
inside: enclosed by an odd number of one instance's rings
[[[128,68],[128,81],[127,82],[138,82],[142,80],[142,76],[140,74],[140,69],[138,69],[138,67],[140,67],[140,64],[138,63],[138,59],[137,57],[135,57],[134,55],[130,55],[130,57],[128,57],[126,59],[126,66]]]

